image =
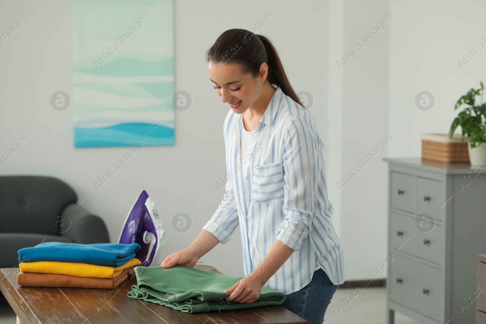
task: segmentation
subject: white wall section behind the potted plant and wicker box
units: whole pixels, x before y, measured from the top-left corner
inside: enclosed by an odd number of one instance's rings
[[[449,132],[452,120],[463,109],[454,110],[457,100],[469,88],[481,87],[481,80],[486,81],[486,49],[462,69],[458,64],[478,43],[486,47],[481,39],[486,39],[486,2],[406,1],[397,8],[398,4],[394,1],[392,5],[396,17],[390,64],[396,72],[390,71],[389,114],[389,131],[398,136],[390,154],[419,156],[421,133]],[[417,93],[424,90],[435,97],[430,111],[421,111],[414,104]],[[456,132],[460,133],[460,127]]]

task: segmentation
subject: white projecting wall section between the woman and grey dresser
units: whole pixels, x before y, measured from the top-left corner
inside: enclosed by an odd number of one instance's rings
[[[386,23],[372,31],[390,12],[388,0],[329,3],[334,10],[328,12],[328,190],[339,220],[346,280],[359,280],[372,274],[386,257],[387,178],[382,157],[388,154],[389,145],[368,164],[361,159],[388,134],[389,74],[383,59],[389,62],[394,18],[384,19]],[[376,34],[364,43],[360,37],[370,31]],[[358,42],[362,48],[353,50]],[[353,56],[348,50],[355,52]],[[345,61],[341,55],[346,54]],[[351,178],[347,172],[358,164],[363,169],[354,171],[357,174]],[[344,182],[343,176],[349,180]]]

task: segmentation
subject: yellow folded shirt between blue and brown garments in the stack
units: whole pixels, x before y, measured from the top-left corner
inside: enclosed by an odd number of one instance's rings
[[[138,266],[140,260],[136,257],[120,267],[105,267],[81,262],[35,261],[21,262],[18,267],[21,272],[69,274],[76,277],[114,278],[123,269]]]

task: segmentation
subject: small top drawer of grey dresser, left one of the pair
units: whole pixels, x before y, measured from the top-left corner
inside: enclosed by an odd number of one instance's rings
[[[409,213],[415,213],[415,176],[391,172],[391,205]]]

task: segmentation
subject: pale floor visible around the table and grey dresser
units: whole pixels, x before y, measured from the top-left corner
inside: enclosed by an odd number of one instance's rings
[[[346,306],[341,298],[347,297],[355,289],[338,289],[331,300],[324,318],[325,324],[380,324],[385,323],[385,289],[366,288]],[[356,295],[356,293],[354,293]],[[338,303],[342,307],[338,307]],[[345,307],[346,306],[346,307]],[[397,324],[420,324],[403,314],[398,313]],[[400,321],[401,320],[401,321]],[[0,324],[16,324],[16,316],[7,300],[0,293]]]

